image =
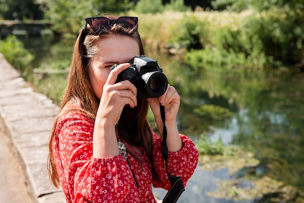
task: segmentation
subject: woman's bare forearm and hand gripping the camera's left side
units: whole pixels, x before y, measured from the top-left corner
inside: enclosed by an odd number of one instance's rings
[[[115,83],[118,74],[129,66],[130,64],[126,63],[114,68],[103,86],[94,126],[94,158],[108,158],[119,154],[115,126],[125,105],[137,105],[135,85],[130,81]]]

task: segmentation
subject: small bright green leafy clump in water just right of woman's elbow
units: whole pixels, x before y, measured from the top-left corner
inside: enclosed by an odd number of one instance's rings
[[[200,135],[200,139],[195,143],[195,146],[200,155],[224,154],[224,144],[222,143],[221,138],[215,142],[212,142],[205,133]]]

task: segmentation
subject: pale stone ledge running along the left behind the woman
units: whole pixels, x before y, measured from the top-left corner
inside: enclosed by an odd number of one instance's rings
[[[65,203],[47,170],[48,139],[59,107],[19,77],[0,54],[0,130],[10,139],[35,203]]]

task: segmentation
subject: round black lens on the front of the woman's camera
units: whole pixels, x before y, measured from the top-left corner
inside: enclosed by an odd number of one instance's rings
[[[139,86],[142,92],[150,98],[162,96],[167,90],[167,77],[160,71],[147,72],[141,76],[141,79],[142,84]]]

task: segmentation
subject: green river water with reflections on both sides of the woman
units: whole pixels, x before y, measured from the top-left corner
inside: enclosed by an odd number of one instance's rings
[[[74,40],[24,40],[36,55],[34,68],[71,58]],[[178,115],[181,133],[194,140],[203,132],[213,140],[221,137],[225,144],[254,154],[260,161],[256,175],[262,174],[304,191],[304,73],[297,72],[296,68],[292,71],[224,67],[194,70],[165,54],[147,51],[147,56],[158,61],[170,85],[181,96]],[[36,77],[35,85],[42,91],[58,87],[58,80],[63,84],[58,94],[63,90],[66,74],[40,74],[41,80]],[[210,108],[199,110],[203,106]],[[199,166],[178,202],[252,203],[253,200],[209,195],[208,192],[218,188],[217,179],[231,180],[235,175],[225,168],[210,171]],[[242,183],[250,186],[246,181]],[[160,198],[165,196],[162,189],[155,189],[154,193]]]

